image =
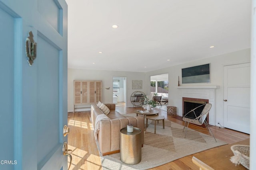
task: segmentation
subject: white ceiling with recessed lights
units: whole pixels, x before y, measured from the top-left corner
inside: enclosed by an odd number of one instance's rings
[[[250,48],[251,0],[66,2],[68,68],[148,72]]]

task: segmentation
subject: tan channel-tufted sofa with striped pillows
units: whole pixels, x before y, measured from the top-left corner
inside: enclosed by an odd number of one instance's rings
[[[102,110],[96,105],[91,105],[91,121],[94,129],[98,129],[98,133],[95,133],[95,138],[98,140],[100,152],[102,155],[112,154],[120,152],[120,130],[127,127],[127,124],[133,124],[134,127],[138,127],[142,130],[141,143],[144,144],[144,119],[143,117],[124,117],[119,112],[115,111],[115,104],[105,104],[110,113],[105,115]],[[101,115],[104,114],[104,115]],[[98,121],[96,117],[105,117]],[[96,122],[98,121],[98,123]],[[97,125],[95,125],[97,124]],[[95,127],[97,126],[97,127]]]

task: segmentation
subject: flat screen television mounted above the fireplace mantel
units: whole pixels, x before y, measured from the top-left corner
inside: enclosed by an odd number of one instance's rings
[[[182,68],[183,83],[210,83],[210,63]]]

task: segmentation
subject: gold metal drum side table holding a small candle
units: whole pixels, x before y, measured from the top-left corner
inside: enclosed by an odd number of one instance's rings
[[[123,163],[134,165],[141,161],[141,133],[134,127],[133,132],[127,132],[127,128],[120,130],[120,159]]]

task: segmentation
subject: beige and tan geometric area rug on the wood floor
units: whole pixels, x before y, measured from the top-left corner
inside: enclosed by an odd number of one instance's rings
[[[132,115],[132,114],[129,114]],[[211,149],[226,143],[213,137],[188,129],[185,138],[183,126],[165,119],[165,129],[162,121],[157,123],[154,134],[154,121],[148,120],[149,126],[144,132],[144,145],[142,147],[142,160],[136,165],[124,164],[120,160],[120,153],[102,156],[100,154],[102,169],[104,170],[145,170],[172,162],[176,159]]]

